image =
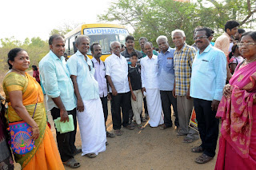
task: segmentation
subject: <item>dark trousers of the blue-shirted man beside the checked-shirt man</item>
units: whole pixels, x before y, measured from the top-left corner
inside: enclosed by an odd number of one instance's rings
[[[162,91],[160,90],[161,101],[162,101],[162,111],[164,114],[164,122],[167,127],[171,127],[173,122],[171,121],[171,109],[170,106],[173,105],[174,115],[175,115],[175,126],[178,127],[178,111],[177,111],[177,99],[173,96],[172,91]]]

